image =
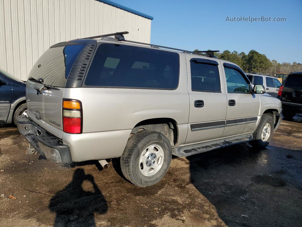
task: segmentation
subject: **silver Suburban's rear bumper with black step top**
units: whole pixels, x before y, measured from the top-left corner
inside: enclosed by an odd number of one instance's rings
[[[40,155],[56,163],[72,163],[69,146],[58,137],[24,115],[17,117],[17,124],[21,135]]]

